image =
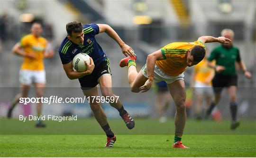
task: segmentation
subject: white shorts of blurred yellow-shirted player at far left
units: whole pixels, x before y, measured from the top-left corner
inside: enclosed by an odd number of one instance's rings
[[[19,82],[25,85],[31,83],[46,83],[46,71],[20,70]]]

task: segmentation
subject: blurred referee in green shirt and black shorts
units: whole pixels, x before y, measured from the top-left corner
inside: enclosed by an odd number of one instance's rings
[[[230,29],[224,29],[221,31],[221,35],[234,39],[234,32]],[[210,61],[216,60],[216,64]],[[239,121],[237,120],[237,86],[238,86],[238,76],[236,72],[235,63],[242,68],[244,75],[247,78],[251,78],[251,74],[247,71],[244,62],[241,60],[239,49],[233,46],[232,42],[224,43],[214,50],[212,50],[210,57],[208,58],[208,66],[214,68],[215,75],[212,79],[212,86],[214,91],[214,99],[207,110],[206,117],[209,117],[212,109],[218,104],[220,100],[221,91],[224,87],[227,88],[230,100],[230,110],[232,116],[231,129],[236,129],[239,126]]]

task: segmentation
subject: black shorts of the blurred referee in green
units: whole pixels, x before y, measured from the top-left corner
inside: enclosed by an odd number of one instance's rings
[[[212,79],[214,93],[220,93],[224,87],[238,86],[237,75],[215,75]]]

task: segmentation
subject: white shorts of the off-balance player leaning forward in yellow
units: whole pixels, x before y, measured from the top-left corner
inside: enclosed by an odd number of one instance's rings
[[[147,70],[146,70],[146,65],[141,68],[142,74],[148,78],[147,76]],[[174,83],[176,80],[184,80],[184,73],[177,75],[177,76],[171,76],[166,74],[163,70],[161,70],[157,65],[155,64],[155,69],[154,69],[154,82],[160,82],[160,81],[165,81],[167,84]]]

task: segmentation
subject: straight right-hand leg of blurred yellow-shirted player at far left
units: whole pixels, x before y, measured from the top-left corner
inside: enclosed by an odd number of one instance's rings
[[[34,83],[34,86],[36,88],[36,95],[37,98],[41,98],[44,95],[45,90],[45,83]],[[37,116],[41,116],[42,114],[42,102],[37,103]],[[45,124],[43,124],[42,120],[37,120],[36,127],[46,127]]]

